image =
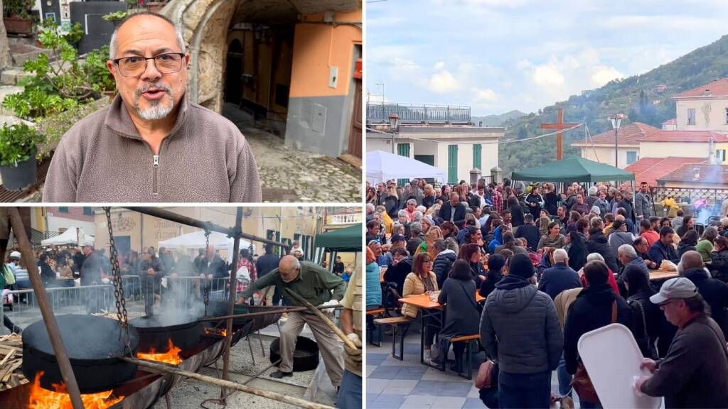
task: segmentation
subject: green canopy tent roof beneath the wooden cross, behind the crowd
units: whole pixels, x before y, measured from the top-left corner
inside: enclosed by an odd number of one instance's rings
[[[606,182],[607,180],[635,180],[635,175],[609,164],[590,161],[581,156],[572,156],[560,161],[513,172],[511,179],[529,180],[531,182],[594,183]]]

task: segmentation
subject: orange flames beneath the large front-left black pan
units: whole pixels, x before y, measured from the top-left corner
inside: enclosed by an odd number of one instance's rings
[[[28,402],[29,409],[73,409],[71,404],[71,396],[66,392],[66,385],[53,384],[55,392],[43,389],[41,387],[41,376],[43,371],[36,373],[36,379],[33,381],[31,389],[31,398]],[[98,394],[82,394],[81,400],[84,402],[84,408],[87,409],[106,409],[124,399],[121,397],[112,397],[114,391],[99,392]]]

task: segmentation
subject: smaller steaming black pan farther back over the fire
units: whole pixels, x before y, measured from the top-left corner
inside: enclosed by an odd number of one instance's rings
[[[194,348],[204,332],[202,323],[190,315],[153,315],[131,319],[129,324],[139,333],[138,351],[143,354],[151,353],[151,349],[157,353],[167,352],[170,339],[183,351]]]

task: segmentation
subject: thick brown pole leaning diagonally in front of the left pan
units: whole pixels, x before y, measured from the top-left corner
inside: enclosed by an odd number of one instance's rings
[[[66,352],[66,346],[63,345],[63,338],[60,338],[58,322],[56,322],[53,310],[50,308],[50,304],[48,303],[48,294],[46,293],[45,287],[43,287],[41,276],[38,273],[38,265],[36,264],[36,258],[33,255],[31,242],[28,239],[28,235],[25,234],[23,219],[20,218],[20,213],[17,211],[17,207],[11,207],[8,210],[10,213],[12,232],[15,234],[15,239],[17,239],[17,244],[20,247],[20,254],[23,255],[25,268],[28,269],[28,277],[31,279],[31,285],[33,285],[33,293],[36,295],[36,300],[38,301],[38,306],[41,310],[43,322],[45,322],[46,330],[48,331],[48,338],[50,338],[50,344],[53,347],[55,360],[58,361],[60,375],[63,378],[63,383],[66,384],[68,396],[71,397],[71,405],[73,405],[74,409],[84,409],[84,402],[81,400],[79,384],[76,383],[74,369],[71,368],[71,360],[68,359],[68,352]]]

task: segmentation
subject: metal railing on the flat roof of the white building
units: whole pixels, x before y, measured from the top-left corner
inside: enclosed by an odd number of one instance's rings
[[[389,123],[389,115],[400,116],[400,123],[470,122],[469,106],[437,106],[399,103],[367,103],[369,123]]]

